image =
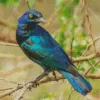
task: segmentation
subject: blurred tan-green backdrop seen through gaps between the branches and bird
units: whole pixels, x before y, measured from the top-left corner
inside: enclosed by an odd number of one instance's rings
[[[90,22],[92,24],[93,37],[100,36],[100,1],[87,0]],[[84,12],[80,0],[29,0],[32,9],[40,11],[45,19],[48,19],[58,9],[62,9],[58,16],[46,29],[59,42],[64,50],[71,55],[71,42],[73,41],[72,57],[82,56],[91,39],[88,36],[87,25],[84,24]],[[17,24],[18,18],[28,10],[25,0],[0,0],[0,19],[10,24]],[[83,25],[84,24],[84,25]],[[0,35],[8,35],[15,39],[16,30],[0,24]],[[100,40],[96,42],[96,49],[100,51]],[[86,53],[93,53],[93,48]],[[3,55],[3,56],[1,56]],[[7,57],[5,57],[7,55]],[[12,56],[15,58],[13,58]],[[21,58],[19,56],[24,56]],[[86,62],[75,63],[80,72],[85,73],[90,67],[90,73],[100,74],[100,64],[94,64],[100,59],[92,59]],[[0,45],[0,78],[24,83],[35,78],[42,72],[42,68],[30,61],[19,47]],[[100,79],[88,79],[93,86],[92,94],[100,98]],[[0,80],[0,88],[14,87],[14,84]],[[70,84],[64,80],[42,84],[32,91],[28,91],[22,100],[68,100],[71,91]],[[2,93],[2,91],[0,91]],[[2,100],[14,100],[18,92],[7,96]],[[89,100],[77,92],[73,92],[69,100]],[[91,100],[91,99],[90,99]],[[98,99],[99,100],[99,99]]]

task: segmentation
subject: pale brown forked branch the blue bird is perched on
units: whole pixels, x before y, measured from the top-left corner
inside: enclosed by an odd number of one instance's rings
[[[12,90],[9,90],[5,93],[0,94],[0,99],[22,89],[20,94],[14,99],[14,100],[20,100],[28,89],[30,90],[32,87],[37,86],[37,84],[40,85],[43,83],[64,79],[63,76],[57,76],[56,80],[55,80],[55,77],[53,76],[49,78],[44,78],[48,73],[50,72],[44,72],[41,75],[39,75],[36,79],[32,79],[23,85],[17,86],[16,88],[13,88]],[[94,74],[87,74],[85,77],[91,78],[91,79],[100,79],[100,75],[94,75]]]

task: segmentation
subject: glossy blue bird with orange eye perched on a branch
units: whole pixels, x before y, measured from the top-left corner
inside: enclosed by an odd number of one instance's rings
[[[19,19],[16,40],[25,55],[39,64],[44,71],[56,70],[80,94],[87,95],[91,84],[76,70],[59,43],[39,23],[45,23],[42,13],[27,10]]]

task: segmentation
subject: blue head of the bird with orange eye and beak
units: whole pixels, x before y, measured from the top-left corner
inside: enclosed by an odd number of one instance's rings
[[[36,10],[28,10],[26,11],[18,20],[18,24],[20,24],[22,27],[30,27],[38,24],[38,23],[45,23],[45,20],[43,19],[43,16],[40,12]]]

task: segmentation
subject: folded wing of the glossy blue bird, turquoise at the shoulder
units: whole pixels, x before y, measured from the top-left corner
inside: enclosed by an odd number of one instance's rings
[[[52,37],[50,39],[51,41],[44,41],[44,43],[49,42],[47,45],[43,44],[41,39],[31,36],[22,43],[21,47],[29,58],[40,65],[57,70],[66,70],[74,74],[74,69],[68,56]]]

